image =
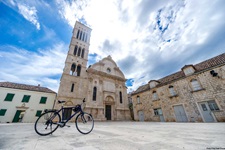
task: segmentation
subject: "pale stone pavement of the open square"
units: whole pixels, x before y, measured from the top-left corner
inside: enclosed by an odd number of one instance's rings
[[[0,124],[0,149],[199,150],[225,149],[225,123],[95,122],[88,135],[74,123],[39,136],[34,124]]]

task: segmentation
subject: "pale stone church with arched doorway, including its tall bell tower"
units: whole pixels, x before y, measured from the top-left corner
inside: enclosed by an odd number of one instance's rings
[[[76,21],[57,99],[74,106],[85,98],[84,111],[95,120],[130,120],[126,79],[111,56],[87,68],[90,36],[91,29]]]

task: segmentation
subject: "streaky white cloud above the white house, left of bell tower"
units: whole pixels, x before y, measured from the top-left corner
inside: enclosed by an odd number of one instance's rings
[[[14,46],[1,46],[1,81],[41,84],[58,92],[59,78],[67,54],[66,47],[60,43],[32,52]]]

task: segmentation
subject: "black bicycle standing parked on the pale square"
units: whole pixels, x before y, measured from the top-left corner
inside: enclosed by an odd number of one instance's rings
[[[58,103],[63,104],[65,101],[59,101]],[[75,115],[75,124],[77,130],[82,134],[90,133],[94,128],[94,119],[91,114],[83,111],[82,106],[85,103],[85,98],[82,104],[78,104],[73,107],[63,107],[59,110],[45,110],[39,118],[36,120],[34,129],[37,134],[46,136],[52,134],[58,127],[70,127],[66,125]],[[60,112],[62,111],[62,119]],[[73,114],[71,112],[74,111]]]

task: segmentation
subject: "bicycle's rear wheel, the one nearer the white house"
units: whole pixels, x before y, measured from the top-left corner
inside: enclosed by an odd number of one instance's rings
[[[41,114],[41,116],[37,119],[34,129],[39,135],[49,135],[59,127],[59,122],[61,122],[59,113],[55,111],[48,111]]]

